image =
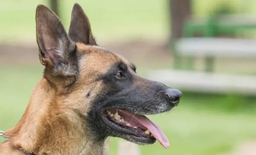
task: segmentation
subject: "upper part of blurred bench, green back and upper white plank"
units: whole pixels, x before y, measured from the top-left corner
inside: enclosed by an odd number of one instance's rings
[[[183,38],[173,41],[175,68],[180,69],[182,59],[187,56],[188,69],[193,69],[194,55],[201,53],[206,59],[206,71],[212,72],[214,57],[255,57],[256,40],[216,38],[256,30],[256,18],[249,15],[218,15],[208,18],[190,16],[183,26]],[[200,34],[202,37],[195,37]],[[191,48],[191,49],[190,49]],[[194,55],[193,55],[194,54]],[[243,56],[244,55],[244,56]]]

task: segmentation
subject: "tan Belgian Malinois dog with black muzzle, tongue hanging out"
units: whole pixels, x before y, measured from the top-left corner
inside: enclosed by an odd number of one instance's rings
[[[0,155],[103,155],[109,136],[169,147],[145,115],[170,111],[182,93],[136,74],[135,65],[97,45],[75,4],[68,34],[44,5],[36,8],[39,59],[45,65],[28,107],[6,131]]]

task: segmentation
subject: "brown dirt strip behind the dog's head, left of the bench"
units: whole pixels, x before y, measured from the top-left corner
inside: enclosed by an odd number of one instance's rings
[[[136,64],[147,64],[148,62],[157,62],[157,60],[170,62],[172,60],[171,52],[166,47],[166,43],[135,40],[104,43],[100,46],[119,53]],[[0,44],[0,62],[7,64],[38,63],[38,47],[36,43],[33,45]]]

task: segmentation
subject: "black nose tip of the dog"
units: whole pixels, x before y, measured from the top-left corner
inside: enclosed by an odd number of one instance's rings
[[[168,88],[166,90],[166,97],[174,106],[177,106],[182,97],[182,92],[180,90]]]

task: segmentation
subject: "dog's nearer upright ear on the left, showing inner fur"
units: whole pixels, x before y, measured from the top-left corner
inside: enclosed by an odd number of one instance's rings
[[[69,39],[57,15],[44,5],[36,8],[36,41],[40,62],[51,70],[50,74],[73,74],[76,44]]]

